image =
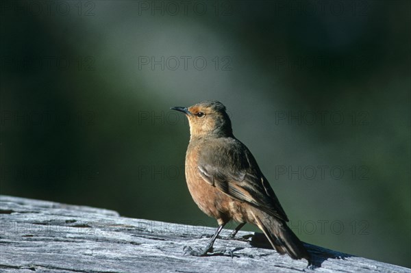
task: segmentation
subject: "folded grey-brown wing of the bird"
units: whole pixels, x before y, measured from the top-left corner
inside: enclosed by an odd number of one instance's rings
[[[221,143],[223,142],[223,143]],[[198,170],[207,183],[284,221],[284,209],[249,149],[233,138],[208,142],[199,153]]]

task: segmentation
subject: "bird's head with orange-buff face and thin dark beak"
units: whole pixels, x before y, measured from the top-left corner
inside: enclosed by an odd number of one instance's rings
[[[190,124],[191,138],[232,136],[231,120],[219,101],[202,101],[190,107],[171,107],[183,112]]]

